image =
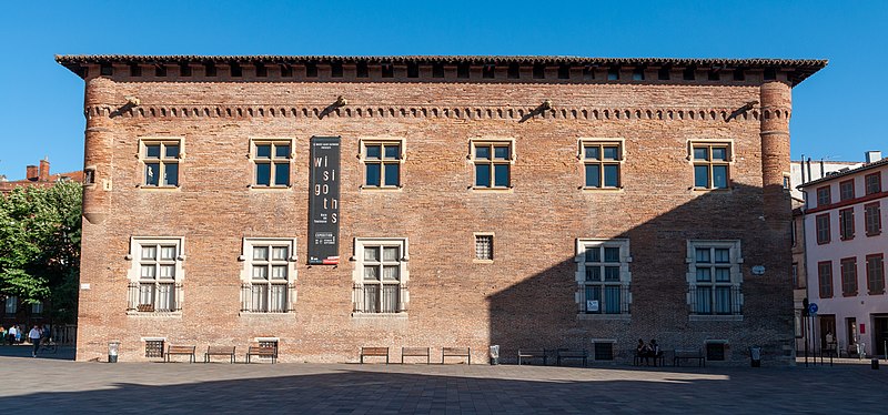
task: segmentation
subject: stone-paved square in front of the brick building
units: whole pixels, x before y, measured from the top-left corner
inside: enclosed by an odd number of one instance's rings
[[[888,366],[553,367],[81,363],[0,357],[0,411],[884,414]]]

